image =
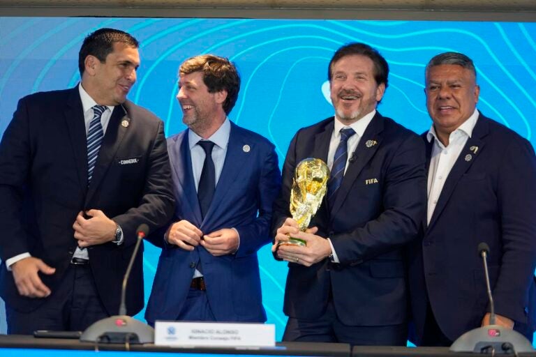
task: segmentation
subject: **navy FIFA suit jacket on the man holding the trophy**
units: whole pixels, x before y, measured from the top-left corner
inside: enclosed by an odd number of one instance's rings
[[[297,163],[310,157],[327,162],[333,130],[332,117],[299,130],[292,139],[274,208],[274,234],[290,217]],[[403,324],[408,317],[403,246],[417,236],[424,211],[424,144],[414,132],[376,113],[354,159],[334,206],[328,208],[324,199],[310,224],[331,239],[341,263],[288,264],[283,310],[289,317],[318,319],[331,290],[343,324]]]

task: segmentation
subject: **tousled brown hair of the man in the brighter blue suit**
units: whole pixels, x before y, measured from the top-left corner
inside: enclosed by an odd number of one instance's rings
[[[240,91],[240,75],[234,63],[225,57],[214,56],[214,54],[203,54],[184,61],[179,68],[179,74],[188,75],[190,73],[202,71],[203,82],[208,87],[209,93],[227,91],[227,98],[223,102],[225,114],[229,114],[237,102]]]

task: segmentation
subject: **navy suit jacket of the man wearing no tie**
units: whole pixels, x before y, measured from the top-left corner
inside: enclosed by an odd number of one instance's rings
[[[433,142],[426,134],[428,165]],[[536,301],[536,158],[514,131],[479,114],[450,172],[422,240],[410,251],[417,343],[426,305],[450,340],[477,328],[488,311],[477,247],[489,245],[496,313],[533,330]],[[524,332],[524,331],[521,331]]]

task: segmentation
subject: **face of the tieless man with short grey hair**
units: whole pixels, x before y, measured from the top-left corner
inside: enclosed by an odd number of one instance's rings
[[[456,64],[432,66],[426,71],[426,107],[439,139],[448,144],[451,132],[473,112],[480,88],[474,73]]]

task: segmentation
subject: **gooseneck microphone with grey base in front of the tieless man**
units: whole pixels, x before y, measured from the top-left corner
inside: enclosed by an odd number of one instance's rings
[[[478,255],[484,264],[484,275],[489,301],[489,325],[474,328],[461,335],[450,347],[453,352],[474,352],[475,354],[517,354],[534,352],[533,345],[512,328],[496,325],[495,305],[491,284],[489,282],[488,261],[489,245],[482,242],[478,245]]]

